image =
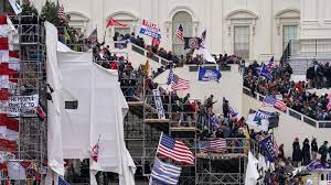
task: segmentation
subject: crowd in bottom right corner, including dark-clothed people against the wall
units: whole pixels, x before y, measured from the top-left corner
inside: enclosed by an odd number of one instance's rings
[[[269,135],[268,132],[255,132],[249,130],[250,142],[255,143],[259,148],[258,143],[261,139]],[[254,144],[250,144],[250,146]],[[250,151],[253,151],[250,149]],[[258,153],[264,154],[259,149]],[[318,145],[317,139],[313,138],[311,142],[309,139],[305,139],[302,148],[300,146],[299,138],[296,138],[292,143],[292,155],[287,157],[284,152],[284,144],[278,146],[278,156],[273,163],[267,166],[258,165],[260,174],[259,182],[265,185],[286,185],[295,184],[302,181],[302,176],[308,175],[311,171],[317,168],[331,168],[331,146],[328,148],[328,141],[324,141],[322,145]],[[320,157],[318,157],[318,154]],[[259,157],[258,154],[255,154]],[[328,160],[329,155],[329,160]],[[296,167],[307,166],[302,171],[295,171]]]

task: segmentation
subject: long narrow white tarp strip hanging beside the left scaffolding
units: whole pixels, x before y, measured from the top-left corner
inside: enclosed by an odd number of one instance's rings
[[[50,22],[45,22],[45,29],[47,48],[47,83],[54,89],[52,92],[53,101],[47,101],[47,159],[51,170],[58,175],[64,175],[61,133],[62,76],[58,70],[56,56],[57,30]],[[49,176],[47,181],[50,181],[50,178],[51,177]]]

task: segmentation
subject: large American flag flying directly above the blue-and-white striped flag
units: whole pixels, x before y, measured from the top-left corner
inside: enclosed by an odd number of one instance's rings
[[[194,164],[194,156],[190,149],[182,142],[169,135],[161,134],[158,153],[178,163]]]

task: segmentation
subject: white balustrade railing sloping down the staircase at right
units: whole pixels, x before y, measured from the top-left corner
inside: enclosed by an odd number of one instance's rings
[[[255,91],[256,96],[252,95],[250,89],[247,88],[247,87],[245,87],[245,86],[243,87],[243,92],[245,95],[247,95],[247,96],[250,96],[252,98],[255,98],[255,99],[259,100],[259,101],[263,101],[264,98],[265,98],[265,96],[263,96],[263,95],[260,95],[260,94],[258,94],[256,91]],[[310,126],[312,126],[314,128],[331,129],[331,120],[319,121],[319,120],[310,118],[310,117],[308,117],[308,116],[306,116],[303,113],[300,113],[297,110],[293,110],[291,108],[287,108],[287,111],[285,113],[288,115],[288,116],[290,116],[290,117],[293,117],[293,118],[296,118],[298,120],[301,120],[301,121],[303,121],[303,122],[306,122],[306,123],[308,123],[308,124],[310,124]]]

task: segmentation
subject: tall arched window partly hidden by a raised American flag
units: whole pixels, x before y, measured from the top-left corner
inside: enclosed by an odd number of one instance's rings
[[[172,51],[174,54],[184,54],[184,43],[180,41],[175,32],[182,24],[184,36],[193,36],[193,21],[191,14],[185,11],[177,12],[172,18]]]

